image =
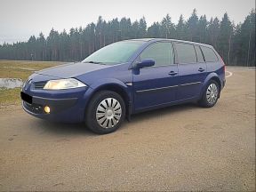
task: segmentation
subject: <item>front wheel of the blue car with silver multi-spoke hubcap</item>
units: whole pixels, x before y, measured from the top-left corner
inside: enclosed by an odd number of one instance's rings
[[[124,116],[123,98],[116,92],[100,91],[92,97],[85,110],[85,124],[92,132],[108,134],[120,127]]]

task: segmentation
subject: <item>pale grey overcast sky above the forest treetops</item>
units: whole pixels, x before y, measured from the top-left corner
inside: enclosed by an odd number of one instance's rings
[[[132,21],[146,18],[148,26],[161,21],[169,13],[177,23],[180,14],[187,20],[196,8],[200,16],[222,18],[228,12],[230,20],[243,22],[255,8],[254,0],[0,0],[0,44],[27,41],[29,36],[42,31],[48,36],[51,28],[83,28],[104,20],[122,17]]]

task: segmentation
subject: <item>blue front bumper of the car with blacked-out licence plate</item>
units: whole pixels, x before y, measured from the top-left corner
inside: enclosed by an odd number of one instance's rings
[[[28,90],[22,89],[20,96],[22,108],[31,116],[53,122],[79,123],[84,121],[84,111],[88,101],[87,92],[92,92],[92,89],[86,87],[49,92],[28,88]],[[44,112],[45,106],[51,108],[49,114]]]

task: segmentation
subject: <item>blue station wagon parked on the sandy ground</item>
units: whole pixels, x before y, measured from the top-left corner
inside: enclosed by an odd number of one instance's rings
[[[211,45],[174,39],[109,44],[82,62],[37,71],[20,92],[32,115],[114,132],[132,114],[185,102],[213,107],[225,64]]]

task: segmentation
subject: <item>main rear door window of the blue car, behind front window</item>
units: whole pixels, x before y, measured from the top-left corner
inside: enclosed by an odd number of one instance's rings
[[[196,63],[196,52],[193,44],[176,43],[179,63]]]

